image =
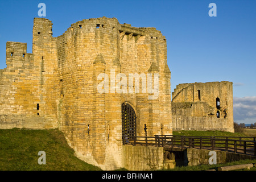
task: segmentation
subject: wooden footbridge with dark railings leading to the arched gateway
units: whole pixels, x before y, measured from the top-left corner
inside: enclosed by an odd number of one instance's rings
[[[186,148],[219,150],[256,157],[256,137],[185,137],[177,135],[127,137],[127,135],[123,135],[123,144],[164,147],[166,151],[184,151]]]

